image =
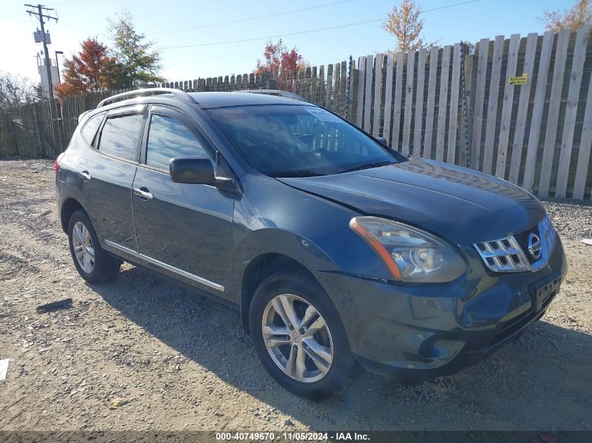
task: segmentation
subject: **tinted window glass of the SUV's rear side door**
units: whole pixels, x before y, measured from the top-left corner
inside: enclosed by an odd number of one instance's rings
[[[99,151],[124,160],[135,161],[141,126],[141,114],[116,115],[107,118],[101,132]]]

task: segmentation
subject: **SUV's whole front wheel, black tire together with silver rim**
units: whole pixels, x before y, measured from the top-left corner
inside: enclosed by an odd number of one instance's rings
[[[278,272],[265,279],[253,296],[249,325],[263,367],[291,393],[325,400],[350,383],[357,364],[345,328],[312,276]]]

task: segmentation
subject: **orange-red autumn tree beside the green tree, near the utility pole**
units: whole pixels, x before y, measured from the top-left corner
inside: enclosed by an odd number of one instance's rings
[[[87,38],[82,49],[64,62],[62,84],[55,87],[57,97],[111,90],[118,78],[118,65],[97,38]]]

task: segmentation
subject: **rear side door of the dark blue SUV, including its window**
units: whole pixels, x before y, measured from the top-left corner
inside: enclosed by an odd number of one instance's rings
[[[144,105],[109,111],[78,165],[81,204],[102,246],[118,252],[137,251],[131,195],[145,112]]]

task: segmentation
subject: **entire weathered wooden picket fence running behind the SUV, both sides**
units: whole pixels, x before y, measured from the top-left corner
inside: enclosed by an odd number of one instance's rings
[[[539,197],[592,197],[589,27],[368,55],[305,69],[155,85],[188,92],[279,89],[325,106],[406,155],[495,174]],[[113,93],[0,111],[0,155],[55,157],[78,115]]]

